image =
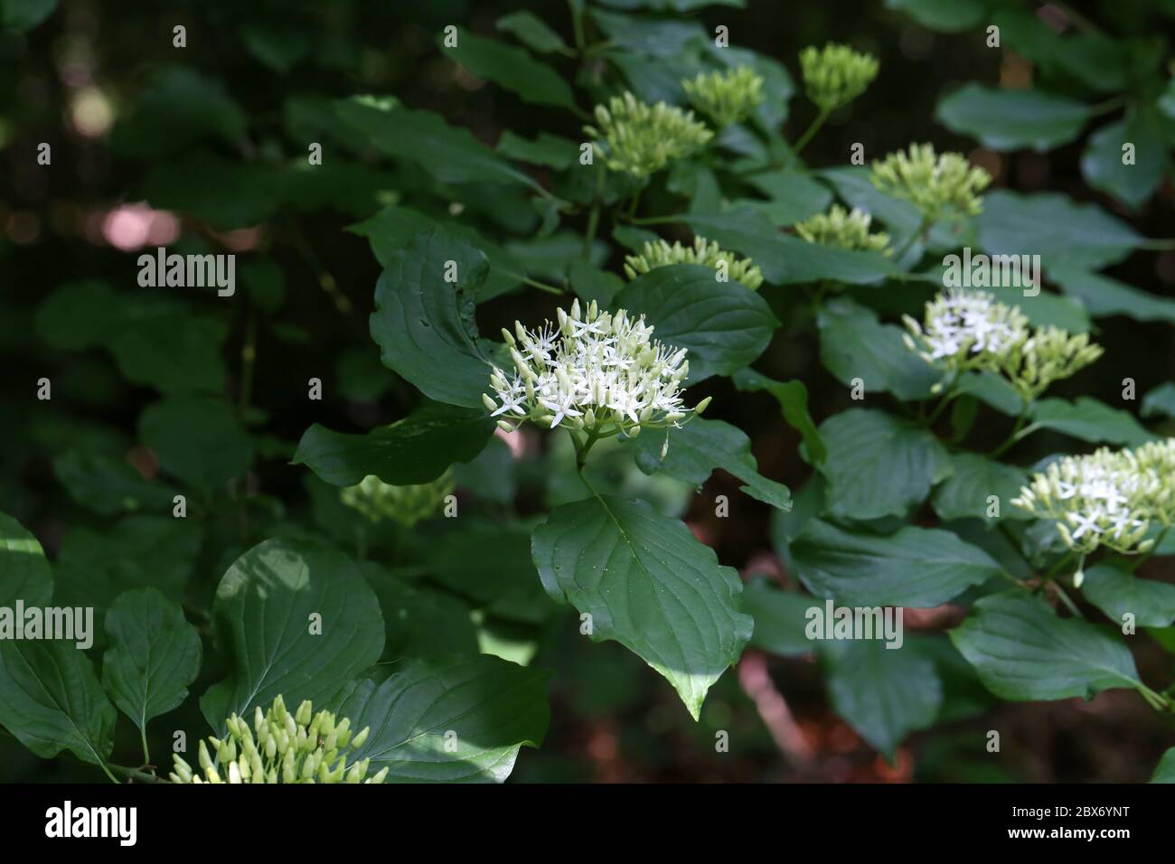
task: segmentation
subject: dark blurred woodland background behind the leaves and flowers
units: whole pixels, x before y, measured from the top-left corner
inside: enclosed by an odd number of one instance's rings
[[[126,578],[128,569],[175,568],[194,578],[194,608],[227,562],[267,533],[313,525],[352,540],[334,490],[288,464],[293,447],[314,422],[367,429],[403,416],[415,397],[380,366],[367,335],[381,267],[369,239],[348,227],[391,203],[459,215],[490,236],[513,237],[510,250],[532,275],[550,281],[562,276],[562,249],[579,241],[558,230],[529,240],[542,214],[524,197],[492,188],[464,188],[462,207],[446,210],[435,183],[410,162],[376,158],[349,140],[334,121],[330,100],[394,94],[490,146],[506,129],[526,139],[549,133],[578,141],[580,119],[526,105],[472,78],[436,45],[449,24],[505,38],[496,22],[522,9],[572,43],[568,6],[555,0],[2,0],[0,6],[0,510],[40,538],[58,562],[66,596],[92,590],[93,581]],[[629,4],[611,6],[623,14]],[[1122,1],[1088,14],[1110,32],[1148,33],[1157,26],[1156,6]],[[1046,7],[1046,14],[1066,14],[1061,5]],[[1025,8],[1038,14],[1041,6]],[[745,8],[712,6],[673,19],[706,33],[725,25],[732,45],[773,58],[793,78],[798,52],[812,43],[847,42],[879,58],[881,73],[866,95],[837,113],[806,149],[810,166],[845,163],[854,142],[872,159],[912,141],[933,141],[986,167],[996,187],[1095,200],[1148,236],[1175,234],[1169,179],[1144,207],[1126,210],[1086,186],[1081,141],[1048,153],[998,154],[934,121],[940,95],[964,81],[1032,79],[1032,61],[988,49],[981,27],[944,34],[886,4],[861,0],[750,0]],[[173,46],[176,26],[186,28],[183,48]],[[633,40],[640,32],[622,35]],[[568,78],[580,75],[585,87],[577,94],[585,109],[591,101],[584,93],[619,89],[607,71],[577,69],[557,53],[548,61]],[[652,54],[630,74],[654,75],[658,67],[672,74],[673,58]],[[779,108],[790,140],[814,113],[800,95]],[[324,147],[323,165],[313,170],[304,167],[308,141]],[[36,161],[42,142],[52,148],[49,166]],[[543,168],[535,175],[551,180]],[[582,229],[582,217],[569,226]],[[677,236],[672,228],[664,234]],[[235,252],[242,302],[136,292],[137,253],[159,246]],[[602,263],[618,273],[623,254],[612,246]],[[1110,273],[1170,295],[1175,254],[1137,254]],[[70,292],[51,303],[63,288]],[[928,296],[904,292],[880,301],[887,315],[916,312]],[[820,366],[817,337],[798,306],[784,292],[770,300],[784,327],[756,367],[779,380],[803,380],[820,422],[847,407],[845,388]],[[536,292],[504,295],[478,309],[481,329],[496,333],[515,319],[540,319],[557,303]],[[1134,377],[1140,393],[1171,380],[1168,323],[1103,319],[1097,339],[1107,348],[1102,361],[1053,395],[1113,403],[1123,377]],[[53,382],[49,402],[34,396],[42,376]],[[306,398],[311,377],[324,382],[322,401]],[[725,380],[699,390],[699,397],[714,397],[714,417],[751,436],[763,474],[793,493],[803,488],[811,469],[771,396],[739,393]],[[152,493],[136,478],[149,485],[159,480],[140,416],[161,393],[230,401],[251,441],[250,468],[228,497],[196,503],[197,537],[140,534],[141,525],[122,521],[135,508],[112,487],[116,476],[130,485],[132,497],[160,494],[157,483]],[[980,423],[993,426],[993,440],[1002,437],[1005,418]],[[559,468],[569,464],[566,454],[549,458],[544,451],[557,446],[537,436],[495,441],[456,473],[462,505],[485,525],[504,513],[526,525],[552,503],[576,497],[573,477]],[[1060,446],[1040,436],[1018,461],[1027,464]],[[87,460],[99,457],[129,466],[134,476],[87,473]],[[723,563],[747,576],[792,580],[776,551],[778,525],[770,508],[744,497],[737,518],[714,517],[716,495],[740,495],[734,478],[719,471],[694,495],[645,477],[624,454],[602,451],[600,458],[606,482],[639,488],[682,514]],[[100,488],[87,489],[95,477]],[[241,496],[247,503],[240,504]],[[170,491],[163,500],[170,501]],[[509,562],[521,556],[519,568],[526,567],[528,547],[518,537],[525,531],[503,535],[488,527],[476,544],[454,551],[451,569],[492,554],[502,578],[510,580]],[[412,549],[446,542],[441,529],[422,523],[372,527],[363,548],[372,558],[381,548],[391,549],[389,569],[414,577]],[[1170,580],[1169,562],[1148,563],[1148,575]],[[1104,692],[1089,703],[998,704],[955,657],[940,667],[940,674],[953,669],[954,675],[944,674],[939,722],[911,736],[891,762],[830,708],[826,676],[814,657],[756,648],[713,688],[694,724],[639,658],[617,644],[582,638],[566,610],[528,612],[529,603],[545,600],[532,596],[537,580],[517,588],[515,608],[495,610],[472,576],[432,577],[479,609],[476,638],[483,650],[556,670],[548,739],[538,751],[523,750],[511,782],[1144,781],[1171,743],[1171,730],[1130,692]],[[491,578],[486,574],[485,581]],[[955,619],[952,609],[909,612],[906,625],[915,632],[907,638],[918,638],[920,629],[941,631]],[[1143,643],[1137,661],[1144,677],[1169,675],[1170,656],[1152,643]],[[988,729],[1001,730],[1000,754],[976,746]],[[728,751],[716,750],[720,732],[728,735]],[[36,759],[0,735],[0,781],[47,779],[93,776],[66,759]]]

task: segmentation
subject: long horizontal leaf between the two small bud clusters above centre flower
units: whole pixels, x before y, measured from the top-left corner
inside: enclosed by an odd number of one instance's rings
[[[707,240],[717,240],[725,249],[748,255],[771,284],[810,283],[825,279],[870,284],[897,273],[894,264],[880,253],[810,243],[780,233],[754,209],[741,208],[720,215],[685,214],[672,219],[685,222]]]

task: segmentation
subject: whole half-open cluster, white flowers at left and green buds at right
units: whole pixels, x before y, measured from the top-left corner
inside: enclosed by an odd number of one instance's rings
[[[1002,375],[1025,402],[1102,355],[1088,334],[1030,329],[1019,307],[1000,303],[987,292],[949,288],[926,304],[921,324],[908,315],[904,320],[909,330],[906,346],[926,362],[948,373]]]

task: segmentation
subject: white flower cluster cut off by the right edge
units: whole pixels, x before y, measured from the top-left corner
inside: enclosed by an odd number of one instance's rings
[[[1175,438],[1066,456],[1033,475],[1012,503],[1055,520],[1074,551],[1144,552],[1154,545],[1146,538],[1152,523],[1166,529],[1175,517]]]

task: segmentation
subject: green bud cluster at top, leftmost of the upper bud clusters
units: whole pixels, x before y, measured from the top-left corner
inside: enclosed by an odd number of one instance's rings
[[[596,106],[596,125],[584,132],[611,170],[645,178],[671,160],[692,155],[713,134],[693,112],[665,102],[647,105],[631,93]]]

